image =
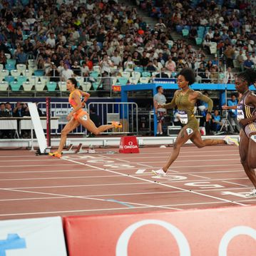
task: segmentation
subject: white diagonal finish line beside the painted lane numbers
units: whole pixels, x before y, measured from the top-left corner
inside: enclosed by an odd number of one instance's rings
[[[109,172],[109,173],[116,173],[116,174],[120,174],[120,175],[122,175],[122,176],[128,176],[128,177],[130,177],[130,178],[134,178],[134,179],[137,179],[137,180],[143,180],[143,181],[146,181],[146,182],[148,182],[148,183],[153,183],[153,184],[155,184],[155,182],[154,182],[153,180],[146,180],[146,179],[144,179],[144,178],[135,177],[135,176],[133,176],[133,175],[126,175],[126,174],[123,174],[123,173],[118,173],[118,172],[116,172],[116,171],[114,171],[114,170],[103,169],[103,168],[100,168],[100,167],[98,167],[98,166],[93,166],[93,165],[88,165],[88,164],[80,163],[80,162],[77,162],[77,161],[74,161],[74,160],[71,160],[71,159],[64,159],[64,160],[70,161],[70,162],[72,162],[72,163],[77,163],[78,165],[86,165],[86,166],[89,166],[89,167],[91,167],[91,168],[94,167],[94,168],[96,168],[96,169],[98,169],[98,170],[105,170],[105,171],[107,171],[107,172]],[[172,185],[168,185],[168,184],[165,184],[165,183],[156,183],[156,184],[158,184],[158,185],[163,185],[163,186],[168,187],[168,188],[174,188],[174,189],[176,189],[176,190],[182,190],[182,191],[188,192],[188,193],[193,193],[193,194],[197,194],[197,195],[203,195],[203,196],[205,196],[205,197],[207,197],[207,198],[214,198],[214,199],[221,200],[221,201],[225,201],[225,202],[227,202],[227,203],[232,203],[232,204],[235,204],[235,205],[244,205],[244,204],[242,204],[242,203],[232,202],[232,201],[230,201],[230,200],[226,200],[226,199],[223,199],[223,198],[217,198],[217,197],[212,196],[212,195],[205,195],[205,194],[203,194],[203,193],[198,193],[198,192],[195,192],[195,191],[186,190],[185,188],[178,188],[178,187],[175,187],[175,186],[172,186]]]

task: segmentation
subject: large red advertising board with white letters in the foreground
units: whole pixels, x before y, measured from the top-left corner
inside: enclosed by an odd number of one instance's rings
[[[256,206],[64,217],[69,256],[256,255]]]

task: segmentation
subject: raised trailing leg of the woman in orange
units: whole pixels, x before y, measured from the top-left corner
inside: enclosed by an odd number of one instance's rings
[[[111,125],[105,125],[96,127],[96,125],[91,121],[90,116],[88,114],[85,114],[84,116],[81,116],[78,118],[79,123],[89,130],[91,133],[98,135],[100,133],[103,133],[103,131],[111,129],[111,128],[118,128],[118,122],[113,122]]]

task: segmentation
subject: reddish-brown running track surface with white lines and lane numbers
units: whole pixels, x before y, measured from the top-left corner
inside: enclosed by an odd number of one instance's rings
[[[185,146],[166,178],[155,178],[172,148],[139,154],[36,156],[1,150],[0,220],[251,205],[236,146]],[[118,150],[116,150],[118,151]]]

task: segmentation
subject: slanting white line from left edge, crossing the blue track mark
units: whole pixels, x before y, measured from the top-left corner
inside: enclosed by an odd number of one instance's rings
[[[46,193],[46,192],[37,192],[37,191],[28,191],[28,190],[14,190],[14,189],[4,189],[0,188],[0,190],[7,190],[7,191],[14,191],[14,192],[23,192],[23,193],[30,193],[30,194],[40,194],[40,195],[54,195],[54,196],[60,196],[63,198],[78,198],[78,199],[87,199],[87,200],[95,200],[95,201],[103,201],[103,202],[111,202],[108,199],[103,199],[103,198],[89,198],[85,196],[78,196],[78,195],[63,195],[63,194],[56,194],[56,193]],[[131,203],[131,202],[126,202],[126,201],[119,201],[121,203],[126,203],[128,205],[140,205],[140,206],[146,206],[149,208],[163,208],[163,209],[169,209],[169,210],[181,210],[178,208],[168,208],[168,207],[162,207],[159,205],[148,205],[148,204],[143,204],[143,203]],[[113,202],[115,203],[115,202]]]

